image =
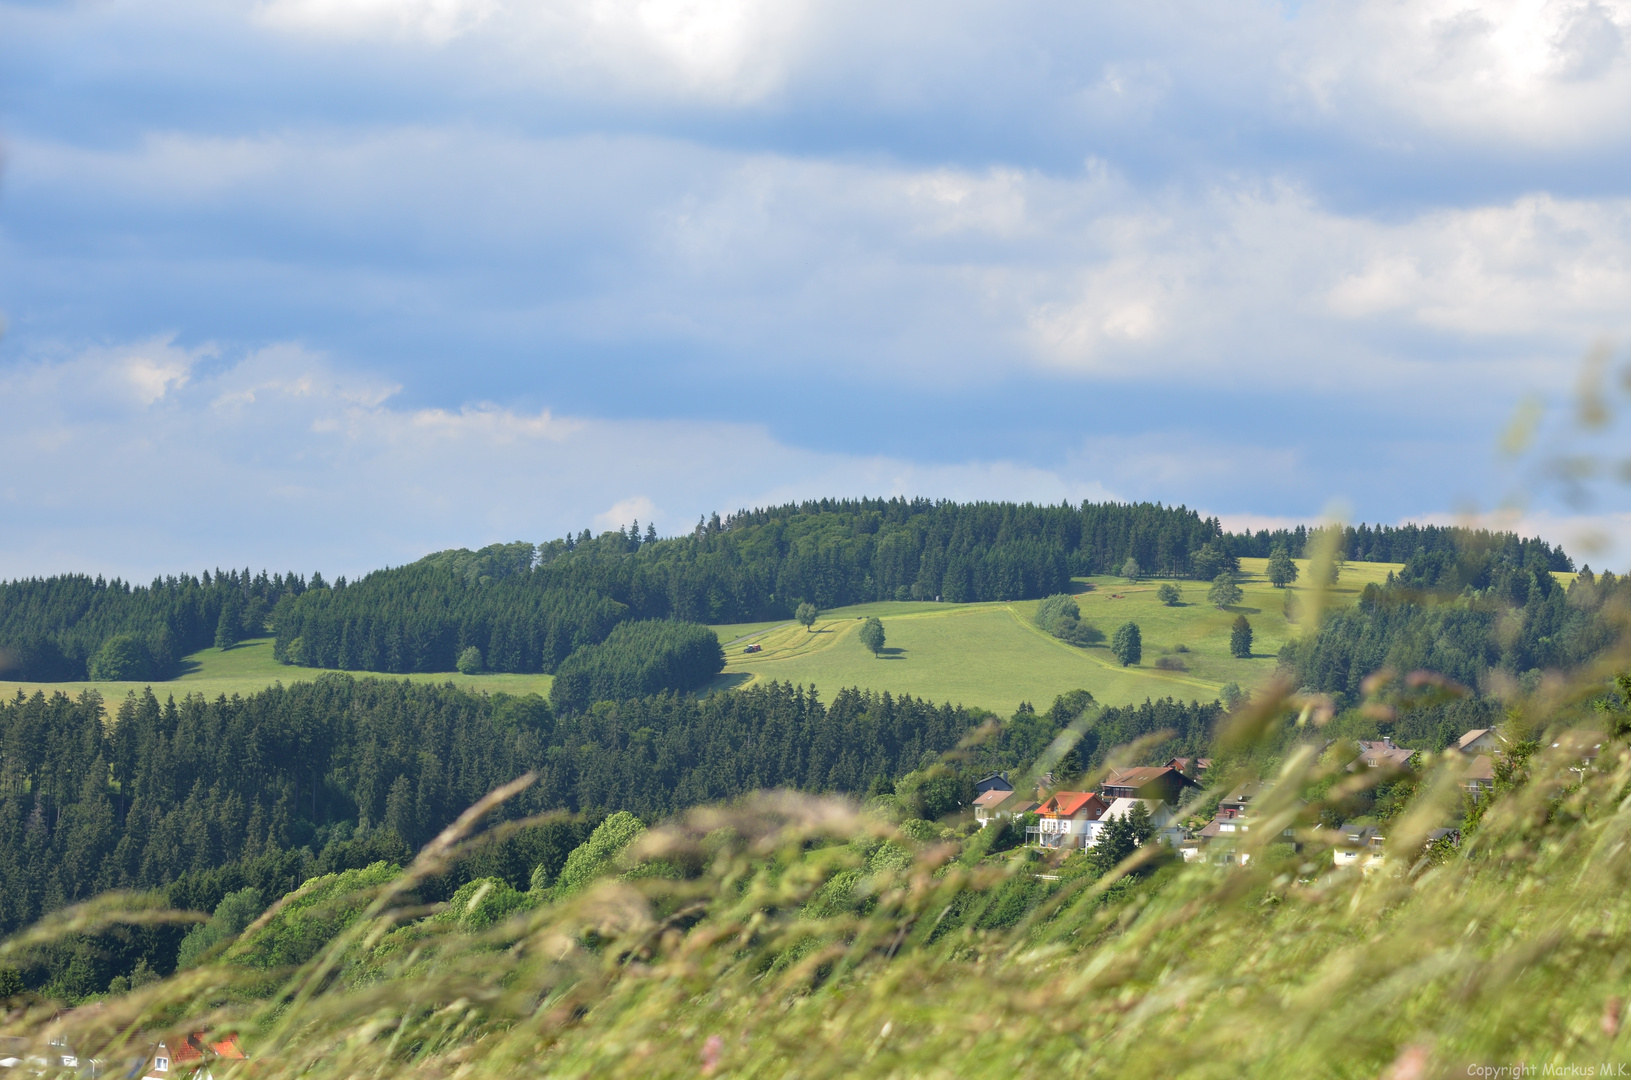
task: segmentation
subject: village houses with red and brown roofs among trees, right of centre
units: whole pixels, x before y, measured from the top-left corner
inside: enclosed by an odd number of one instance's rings
[[[1504,749],[1505,739],[1497,731],[1476,728],[1447,750],[1458,765],[1458,783],[1470,801],[1483,799],[1494,788],[1496,762]],[[1600,747],[1580,749],[1589,762]],[[1391,737],[1360,741],[1359,754],[1346,768],[1383,770],[1403,777],[1419,768],[1424,757],[1424,750],[1396,746]],[[1062,853],[1096,848],[1112,822],[1138,817],[1148,822],[1145,832],[1153,842],[1168,845],[1186,863],[1241,866],[1262,843],[1261,835],[1259,843],[1246,843],[1253,824],[1274,821],[1280,842],[1298,850],[1310,842],[1313,847],[1329,848],[1336,866],[1359,866],[1364,871],[1381,866],[1388,834],[1385,821],[1355,819],[1315,825],[1313,830],[1298,829],[1295,819],[1302,801],[1274,804],[1269,799],[1272,780],[1236,785],[1217,803],[1210,821],[1200,824],[1196,811],[1204,804],[1202,781],[1210,768],[1212,759],[1207,757],[1174,757],[1161,765],[1111,768],[1093,791],[1049,791],[1042,785],[1034,793],[1014,790],[1005,773],[992,773],[975,785],[974,817],[982,829],[1003,819],[1021,819],[1026,822],[1026,845]],[[1429,830],[1424,843],[1460,847],[1460,819]]]

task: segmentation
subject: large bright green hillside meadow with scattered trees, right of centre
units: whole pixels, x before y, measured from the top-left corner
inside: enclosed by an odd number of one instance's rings
[[[796,623],[719,626],[727,641],[719,685],[757,680],[814,684],[827,693],[858,685],[936,702],[979,705],[1001,715],[1019,702],[1045,703],[1065,690],[1085,688],[1106,705],[1147,697],[1210,698],[1228,682],[1241,687],[1267,677],[1280,646],[1297,633],[1284,613],[1285,589],[1262,573],[1267,560],[1241,560],[1240,605],[1223,612],[1205,602],[1207,584],[1179,582],[1184,599],[1166,607],[1156,599],[1160,581],[1129,584],[1120,578],[1076,581],[1081,618],[1106,640],[1125,622],[1143,631],[1143,661],[1122,667],[1104,646],[1080,649],[1037,630],[1037,600],[1011,604],[861,604],[824,613],[814,631]],[[1350,604],[1367,582],[1381,582],[1398,563],[1349,563],[1331,597]],[[1308,564],[1298,563],[1303,578]],[[1306,582],[1303,582],[1306,584]],[[1091,587],[1090,587],[1091,586]],[[1293,586],[1292,594],[1300,589]],[[860,643],[866,615],[884,622],[887,649],[877,659]],[[1251,620],[1256,635],[1251,659],[1230,656],[1230,623]],[[742,653],[749,643],[762,653]],[[1179,653],[1182,646],[1182,653]],[[1163,671],[1168,657],[1187,671]]]

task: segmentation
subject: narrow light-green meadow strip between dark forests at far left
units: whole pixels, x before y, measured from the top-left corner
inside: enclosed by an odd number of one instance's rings
[[[54,690],[62,690],[64,693],[78,695],[85,690],[96,690],[103,698],[116,706],[124,700],[132,690],[139,692],[144,687],[153,687],[153,693],[160,698],[166,695],[183,697],[186,693],[202,693],[207,698],[215,698],[219,695],[232,697],[233,693],[248,695],[256,690],[264,690],[274,682],[310,682],[323,674],[321,669],[315,667],[289,667],[279,664],[272,659],[272,640],[271,638],[254,638],[245,641],[236,648],[227,649],[202,649],[192,653],[183,662],[183,674],[178,679],[168,682],[8,682],[0,680],[0,695],[11,697],[18,690],[24,693],[34,693],[36,690],[44,690],[51,693]],[[424,674],[424,675],[390,675],[383,672],[351,672],[352,675],[369,675],[378,674],[382,679],[411,679],[414,682],[452,682],[460,687],[471,690],[502,690],[506,693],[550,693],[550,675],[504,675],[504,674],[484,674],[484,675],[460,675],[458,672],[442,672],[442,674]]]

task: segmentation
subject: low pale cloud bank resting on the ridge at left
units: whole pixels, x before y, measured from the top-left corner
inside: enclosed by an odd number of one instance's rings
[[[13,463],[0,470],[0,576],[145,578],[220,561],[356,574],[634,517],[667,535],[698,512],[833,493],[1109,498],[1080,473],[802,450],[760,424],[411,408],[391,383],[292,344],[194,364],[152,401],[124,390],[122,409],[80,408],[85,383],[117,385],[148,356],[175,351],[106,347],[0,374],[11,416],[0,462]],[[607,507],[607,493],[636,494]]]

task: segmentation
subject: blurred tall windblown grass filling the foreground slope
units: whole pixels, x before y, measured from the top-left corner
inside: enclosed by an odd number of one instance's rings
[[[39,1003],[5,1028],[108,1060],[153,1033],[232,1029],[264,1077],[1235,1080],[1631,1062],[1631,750],[1577,728],[1593,716],[1580,697],[1553,687],[1514,705],[1512,733],[1545,749],[1437,865],[1422,842],[1455,811],[1463,762],[1434,762],[1386,861],[1362,874],[1336,870],[1311,829],[1342,791],[1315,791],[1381,777],[1344,773],[1311,741],[1271,773],[1238,837],[1246,866],[1148,845],[1085,873],[985,855],[990,834],[771,795],[695,811],[599,881],[462,925],[414,887],[480,842],[488,803],[347,899],[367,910],[300,967],[228,949],[99,1008]],[[1235,716],[1222,746],[1238,768],[1215,786],[1249,773],[1305,705]],[[1300,852],[1280,843],[1287,827]],[[160,914],[93,902],[5,949],[119,917]]]

